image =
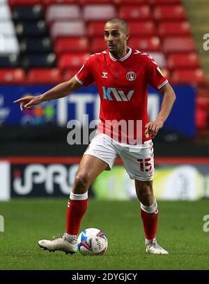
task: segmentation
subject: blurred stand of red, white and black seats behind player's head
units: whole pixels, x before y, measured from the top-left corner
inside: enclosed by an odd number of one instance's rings
[[[171,82],[206,82],[181,0],[1,0],[0,17],[1,68],[6,74],[22,68],[30,84],[41,82],[38,70],[54,84],[67,78],[68,68],[75,74],[88,54],[106,48],[101,35],[111,17],[127,20],[128,44],[151,53]]]

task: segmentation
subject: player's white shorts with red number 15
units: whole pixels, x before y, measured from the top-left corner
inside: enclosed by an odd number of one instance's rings
[[[130,145],[116,142],[104,133],[96,133],[88,145],[85,154],[95,156],[107,163],[111,170],[116,158],[123,160],[123,165],[130,179],[151,181],[154,177],[154,156],[152,140],[140,145]]]

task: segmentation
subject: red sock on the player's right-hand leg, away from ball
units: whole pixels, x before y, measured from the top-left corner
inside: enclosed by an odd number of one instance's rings
[[[155,213],[150,214],[141,209],[141,218],[144,225],[144,233],[146,239],[155,239],[157,231],[157,217],[158,209],[155,211]]]

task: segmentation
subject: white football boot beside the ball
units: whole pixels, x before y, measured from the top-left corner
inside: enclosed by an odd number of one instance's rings
[[[77,239],[75,239],[75,241],[73,241],[73,244],[71,244],[65,239],[65,234],[63,234],[63,237],[55,237],[54,239],[52,239],[52,241],[41,239],[40,241],[38,241],[38,246],[50,252],[64,251],[66,254],[73,254],[77,252]]]

